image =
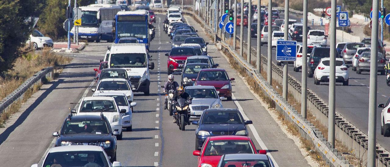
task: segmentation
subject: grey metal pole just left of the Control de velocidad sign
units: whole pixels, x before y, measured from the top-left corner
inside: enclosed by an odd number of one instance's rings
[[[267,60],[267,81],[269,85],[272,85],[272,0],[268,0],[268,60]]]

